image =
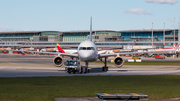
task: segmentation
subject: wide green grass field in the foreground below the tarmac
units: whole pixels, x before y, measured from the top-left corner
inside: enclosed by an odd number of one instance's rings
[[[180,97],[180,75],[0,78],[1,101],[53,101],[96,93],[144,93],[149,99]]]

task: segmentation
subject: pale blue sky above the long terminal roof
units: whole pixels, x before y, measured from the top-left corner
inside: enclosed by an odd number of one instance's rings
[[[0,31],[178,28],[179,0],[0,0]]]

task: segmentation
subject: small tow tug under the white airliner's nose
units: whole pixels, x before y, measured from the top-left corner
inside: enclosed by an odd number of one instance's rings
[[[89,70],[87,69],[86,66],[81,66],[80,65],[80,61],[79,60],[67,60],[65,62],[65,70],[67,70],[67,72],[69,74],[71,74],[71,72],[73,74],[75,74],[76,72],[79,72],[79,73],[87,73],[89,72]]]

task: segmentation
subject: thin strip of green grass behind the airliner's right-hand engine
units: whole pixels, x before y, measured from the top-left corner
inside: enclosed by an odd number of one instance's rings
[[[96,61],[94,63],[102,63],[101,61]],[[102,63],[103,64],[103,63]],[[114,64],[110,61],[107,64]],[[142,62],[124,62],[124,65],[164,65],[164,66],[180,66],[180,61],[142,61]]]

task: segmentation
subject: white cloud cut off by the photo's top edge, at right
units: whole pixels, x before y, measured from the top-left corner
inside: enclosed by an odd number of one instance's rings
[[[178,0],[144,0],[147,3],[175,4]]]

